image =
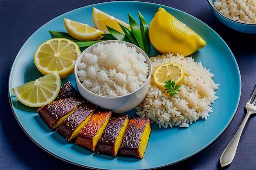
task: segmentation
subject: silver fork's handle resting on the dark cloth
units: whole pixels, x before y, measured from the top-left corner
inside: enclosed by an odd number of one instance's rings
[[[241,125],[239,126],[238,130],[236,131],[236,134],[231,139],[231,141],[229,142],[229,144],[227,145],[225,150],[222,152],[222,154],[220,156],[220,165],[221,165],[221,167],[227,166],[233,161],[233,159],[236,155],[236,149],[237,149],[240,137],[242,135],[242,132],[245,128],[245,124],[246,124],[250,115],[251,115],[250,112],[248,112],[245,115],[245,118],[243,119],[243,121],[242,121]]]

